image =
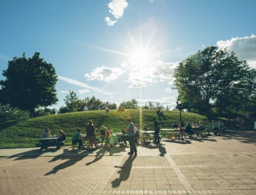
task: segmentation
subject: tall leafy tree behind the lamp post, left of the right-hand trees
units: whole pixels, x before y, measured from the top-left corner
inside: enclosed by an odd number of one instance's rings
[[[191,103],[210,117],[211,103],[216,97],[219,80],[218,67],[223,63],[227,53],[216,46],[205,48],[191,55],[175,69],[175,86],[178,89],[178,99]]]

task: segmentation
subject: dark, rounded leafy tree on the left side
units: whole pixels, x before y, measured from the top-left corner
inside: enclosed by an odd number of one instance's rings
[[[34,117],[38,107],[51,106],[58,101],[57,75],[52,64],[34,53],[32,58],[13,58],[3,71],[5,80],[0,81],[0,102],[22,110]]]

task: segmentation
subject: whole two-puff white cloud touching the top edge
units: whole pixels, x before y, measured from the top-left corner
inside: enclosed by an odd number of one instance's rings
[[[112,0],[108,4],[109,13],[114,16],[116,20],[112,20],[109,17],[105,17],[105,22],[108,26],[113,26],[119,19],[122,17],[124,9],[126,9],[128,6],[128,2],[126,0]]]

